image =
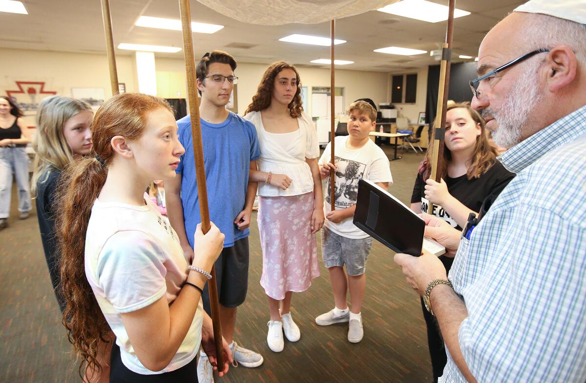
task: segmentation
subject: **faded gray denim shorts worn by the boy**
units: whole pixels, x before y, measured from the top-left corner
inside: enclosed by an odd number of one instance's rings
[[[325,227],[322,229],[322,257],[327,268],[346,265],[348,275],[362,275],[366,272],[366,259],[371,248],[372,237],[355,240]]]

